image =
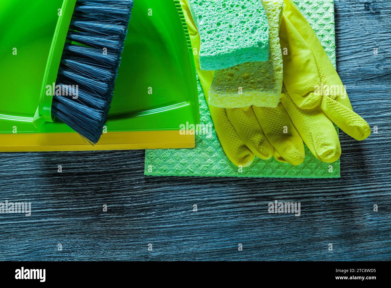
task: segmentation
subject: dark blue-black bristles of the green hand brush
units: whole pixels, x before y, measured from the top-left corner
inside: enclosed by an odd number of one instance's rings
[[[52,114],[92,144],[108,117],[132,7],[133,0],[76,2]]]

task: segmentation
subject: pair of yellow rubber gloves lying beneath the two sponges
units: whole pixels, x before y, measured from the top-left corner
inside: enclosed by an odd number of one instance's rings
[[[180,1],[192,46],[199,51],[200,38],[188,0]],[[310,24],[292,0],[284,0],[284,4],[280,43],[288,53],[283,53],[284,86],[278,107],[224,109],[209,105],[222,148],[236,166],[248,167],[255,156],[300,165],[305,158],[303,141],[317,159],[332,163],[341,155],[333,122],[357,140],[371,133],[368,123],[353,112],[341,79]],[[198,55],[194,60],[208,102],[214,71],[201,70]],[[336,89],[338,93],[334,93]]]

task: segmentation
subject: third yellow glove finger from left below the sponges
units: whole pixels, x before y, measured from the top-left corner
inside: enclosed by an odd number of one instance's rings
[[[253,110],[266,138],[281,158],[291,165],[303,163],[305,157],[303,140],[281,102],[278,103],[277,108],[253,106]]]

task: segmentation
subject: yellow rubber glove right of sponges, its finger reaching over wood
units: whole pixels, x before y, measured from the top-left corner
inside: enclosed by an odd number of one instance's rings
[[[280,42],[282,49],[287,48],[287,54],[283,53],[283,82],[291,99],[302,109],[320,107],[353,138],[367,138],[371,129],[353,112],[344,85],[311,25],[292,0],[284,0],[284,3]],[[302,134],[302,127],[296,128]],[[303,140],[307,144],[306,139]]]

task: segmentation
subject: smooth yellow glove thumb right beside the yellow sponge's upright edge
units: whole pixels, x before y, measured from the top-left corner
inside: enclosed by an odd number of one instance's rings
[[[314,54],[300,33],[283,16],[280,27],[280,43],[284,51],[283,82],[298,107],[312,109],[319,105],[321,95],[314,93],[321,83]]]

